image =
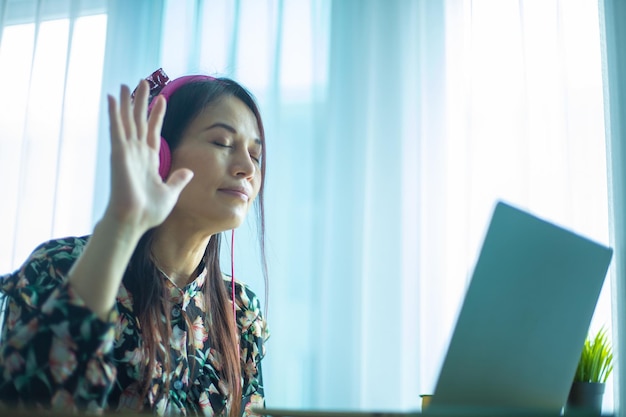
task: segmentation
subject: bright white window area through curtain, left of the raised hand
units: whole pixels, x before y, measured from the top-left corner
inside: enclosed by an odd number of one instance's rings
[[[104,1],[0,1],[0,271],[91,230]]]

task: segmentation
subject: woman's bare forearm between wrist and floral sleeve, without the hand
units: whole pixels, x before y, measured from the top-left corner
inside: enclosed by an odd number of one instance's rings
[[[74,292],[101,319],[115,304],[124,272],[142,233],[105,216],[68,275]]]

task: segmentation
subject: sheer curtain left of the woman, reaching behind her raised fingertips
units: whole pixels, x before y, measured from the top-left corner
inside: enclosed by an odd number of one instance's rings
[[[0,271],[101,216],[105,93],[156,67],[162,13],[159,0],[0,1]]]

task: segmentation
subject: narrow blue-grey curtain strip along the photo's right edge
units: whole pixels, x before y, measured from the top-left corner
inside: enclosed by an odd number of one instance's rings
[[[613,333],[616,358],[616,415],[626,416],[626,4],[600,1],[603,35],[603,79],[609,177],[612,263]]]

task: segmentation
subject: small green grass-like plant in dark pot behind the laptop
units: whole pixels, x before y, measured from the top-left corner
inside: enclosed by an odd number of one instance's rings
[[[613,348],[603,327],[585,340],[565,411],[600,414],[604,387],[612,371]]]

